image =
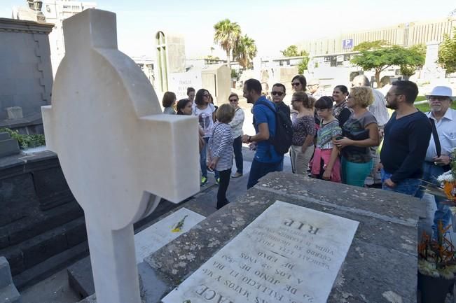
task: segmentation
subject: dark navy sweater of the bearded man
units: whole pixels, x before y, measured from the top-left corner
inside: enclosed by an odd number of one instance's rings
[[[421,178],[422,165],[431,139],[431,122],[417,111],[396,119],[394,112],[385,125],[380,160],[383,169],[392,174],[394,183],[406,178]]]

